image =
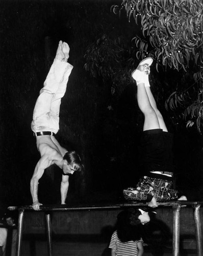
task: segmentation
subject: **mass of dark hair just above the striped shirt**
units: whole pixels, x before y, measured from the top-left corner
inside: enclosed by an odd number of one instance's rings
[[[121,242],[136,241],[142,237],[143,227],[138,217],[138,209],[121,211],[117,216],[117,233]]]

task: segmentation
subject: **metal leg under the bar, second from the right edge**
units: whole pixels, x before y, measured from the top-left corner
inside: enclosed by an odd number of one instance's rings
[[[180,209],[181,205],[173,206],[173,256],[179,256],[180,250]]]

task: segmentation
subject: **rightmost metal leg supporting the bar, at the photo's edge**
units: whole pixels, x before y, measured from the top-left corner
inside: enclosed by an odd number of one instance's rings
[[[200,208],[200,205],[194,206],[194,227],[195,227],[197,256],[202,256],[203,251],[202,251],[201,222],[200,222],[199,208]]]

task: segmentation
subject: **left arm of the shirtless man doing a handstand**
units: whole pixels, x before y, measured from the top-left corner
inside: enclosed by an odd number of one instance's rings
[[[38,201],[38,182],[44,173],[44,169],[50,166],[50,161],[47,156],[42,156],[34,170],[33,177],[30,182],[30,191],[33,199],[33,209],[39,210],[39,206],[42,205]]]

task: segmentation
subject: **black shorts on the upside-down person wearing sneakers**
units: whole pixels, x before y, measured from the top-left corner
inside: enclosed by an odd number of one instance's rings
[[[147,130],[141,138],[141,166],[145,173],[152,170],[173,172],[173,135],[162,129]]]

